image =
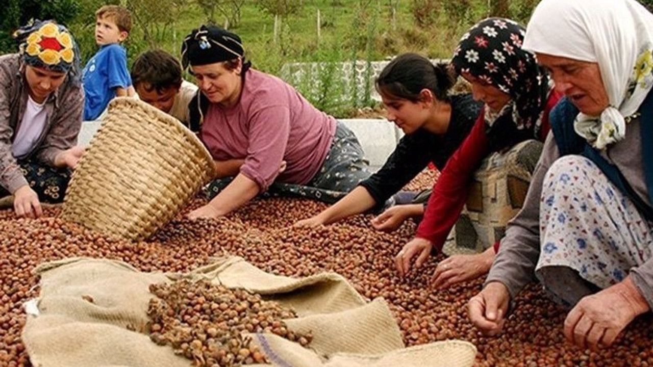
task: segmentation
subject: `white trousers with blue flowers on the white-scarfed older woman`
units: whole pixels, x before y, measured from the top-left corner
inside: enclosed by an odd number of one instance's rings
[[[565,155],[549,168],[539,226],[541,252],[535,274],[552,293],[574,290],[556,284],[568,281],[563,274],[545,276],[547,268],[571,268],[584,281],[604,289],[653,255],[653,223],[594,162],[580,155]],[[554,296],[558,301],[579,299],[572,294]]]

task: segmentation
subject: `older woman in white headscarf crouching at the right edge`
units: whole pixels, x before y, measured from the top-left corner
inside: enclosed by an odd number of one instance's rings
[[[565,337],[611,345],[653,306],[653,14],[634,0],[543,0],[524,48],[565,94],[485,287],[486,334],[535,275],[569,306]]]

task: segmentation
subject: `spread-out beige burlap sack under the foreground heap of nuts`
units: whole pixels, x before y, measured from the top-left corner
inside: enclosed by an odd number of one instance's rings
[[[313,332],[310,349],[274,334],[252,335],[274,365],[469,367],[476,354],[473,345],[457,341],[404,348],[385,301],[365,302],[338,274],[274,276],[238,257],[189,274],[142,273],[104,259],[66,259],[35,272],[41,277],[40,296],[26,307],[22,334],[34,366],[191,366],[143,333],[153,296],[149,285],[178,278],[242,287],[294,308],[298,318],[288,326]]]

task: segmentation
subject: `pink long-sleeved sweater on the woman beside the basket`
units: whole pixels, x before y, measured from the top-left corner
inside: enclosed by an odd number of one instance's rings
[[[240,101],[211,104],[200,136],[214,159],[245,159],[240,173],[261,191],[272,182],[304,184],[317,174],[336,133],[336,120],[283,80],[249,69]],[[278,174],[281,161],[287,167]]]

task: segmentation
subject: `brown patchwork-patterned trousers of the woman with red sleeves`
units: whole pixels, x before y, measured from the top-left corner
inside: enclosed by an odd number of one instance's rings
[[[505,234],[505,226],[524,205],[543,144],[526,140],[493,153],[474,172],[465,209],[443,247],[447,255],[479,253]]]

